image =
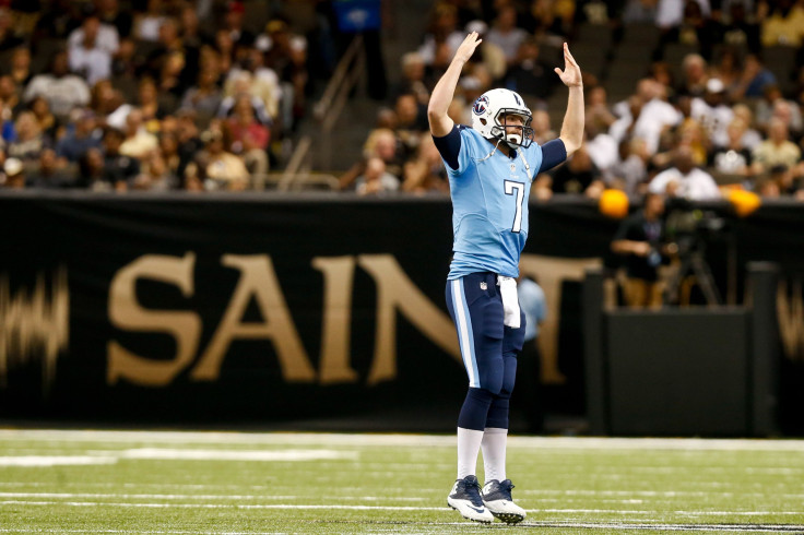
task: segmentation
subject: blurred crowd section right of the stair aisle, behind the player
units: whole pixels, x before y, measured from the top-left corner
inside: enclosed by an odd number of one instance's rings
[[[583,28],[604,28],[600,43]],[[549,103],[563,109],[553,68],[563,41],[603,48],[610,62],[630,28],[648,28],[645,61],[630,54],[641,78],[610,102],[617,84],[606,69],[584,64],[584,146],[564,166],[539,176],[534,194],[598,198],[614,188],[690,200],[730,189],[804,200],[804,2],[801,0],[442,0],[435,3],[417,50],[402,57],[402,80],[377,118],[364,157],[341,176],[358,193],[442,192],[449,186],[426,122],[434,84],[466,33],[483,38],[464,70],[451,118],[471,123],[470,108],[493,87],[520,93],[533,110],[536,141],[557,133]],[[674,64],[669,47],[685,55]],[[788,58],[768,66],[764,55]],[[592,74],[598,70],[600,74]],[[622,82],[619,83],[622,85]]]

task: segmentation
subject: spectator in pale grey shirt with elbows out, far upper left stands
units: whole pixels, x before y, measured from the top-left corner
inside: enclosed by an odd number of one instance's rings
[[[90,104],[90,86],[81,76],[70,74],[67,52],[60,50],[54,55],[49,70],[34,76],[25,87],[25,102],[37,96],[45,97],[58,120],[66,120],[74,107]]]

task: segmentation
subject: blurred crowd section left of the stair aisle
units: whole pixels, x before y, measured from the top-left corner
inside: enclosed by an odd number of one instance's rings
[[[331,72],[326,20],[315,1],[0,1],[0,185],[248,188],[286,152],[310,64]]]

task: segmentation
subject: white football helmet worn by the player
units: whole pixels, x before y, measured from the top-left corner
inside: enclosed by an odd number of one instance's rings
[[[522,118],[522,126],[516,126],[518,128],[516,133],[506,130],[506,117],[512,115]],[[522,97],[510,90],[489,90],[472,106],[472,128],[484,138],[505,141],[511,147],[528,147],[533,143],[532,119],[533,115]],[[508,128],[511,127],[515,124]]]

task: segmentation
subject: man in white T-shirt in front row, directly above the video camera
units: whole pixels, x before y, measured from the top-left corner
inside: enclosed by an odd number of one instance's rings
[[[693,150],[679,145],[673,155],[674,167],[666,169],[650,181],[648,191],[666,194],[669,198],[688,201],[707,201],[720,198],[718,185],[710,174],[696,167]]]

